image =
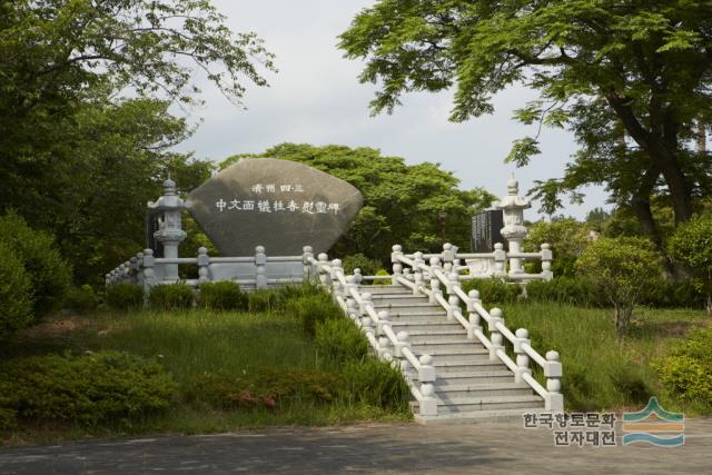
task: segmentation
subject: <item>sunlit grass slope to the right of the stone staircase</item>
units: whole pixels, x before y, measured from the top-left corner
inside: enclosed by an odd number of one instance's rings
[[[637,308],[629,336],[617,342],[609,309],[527,303],[501,307],[507,327],[528,329],[542,355],[550,349],[561,354],[566,410],[637,410],[650,396],[688,415],[709,410],[669,395],[653,367],[690,329],[712,325],[703,310]]]

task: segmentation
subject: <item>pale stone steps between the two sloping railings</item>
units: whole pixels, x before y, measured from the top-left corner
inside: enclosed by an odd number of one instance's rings
[[[504,363],[491,360],[490,352],[477,339],[468,339],[459,323],[448,320],[441,305],[404,286],[374,285],[367,291],[375,310],[388,310],[393,330],[407,331],[413,352],[433,357],[437,415],[419,415],[414,402],[417,419],[493,419],[544,410],[544,400],[527,384],[515,383]],[[406,377],[416,383],[418,373],[409,368]]]

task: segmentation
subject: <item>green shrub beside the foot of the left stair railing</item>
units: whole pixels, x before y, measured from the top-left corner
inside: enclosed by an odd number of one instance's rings
[[[372,357],[344,364],[339,394],[346,400],[404,412],[411,399],[403,374],[389,363]]]

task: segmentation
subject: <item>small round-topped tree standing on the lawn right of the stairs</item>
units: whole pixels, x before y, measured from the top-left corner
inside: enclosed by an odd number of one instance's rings
[[[576,270],[603,288],[615,308],[619,338],[625,336],[645,287],[660,278],[659,256],[641,238],[600,238],[583,251]]]

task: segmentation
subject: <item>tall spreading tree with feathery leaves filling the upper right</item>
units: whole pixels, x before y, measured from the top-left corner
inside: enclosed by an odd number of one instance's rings
[[[456,86],[451,118],[462,121],[492,112],[492,96],[512,83],[538,90],[516,118],[571,127],[582,145],[565,179],[546,184],[550,198],[603,182],[646,217],[662,185],[680,222],[709,190],[710,157],[692,150],[695,120],[711,103],[709,1],[380,0],[339,46],[367,59],[362,81],[380,82],[375,112],[406,91]],[[537,137],[525,137],[507,159],[522,166],[538,151]]]

